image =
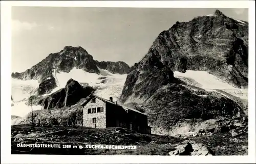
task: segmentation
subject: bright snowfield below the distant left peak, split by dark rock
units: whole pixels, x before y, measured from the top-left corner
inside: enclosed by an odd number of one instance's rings
[[[61,88],[65,88],[67,81],[72,78],[78,81],[81,85],[83,85],[83,83],[88,83],[91,87],[94,87],[96,89],[96,95],[105,99],[113,97],[114,101],[118,101],[118,97],[122,92],[127,75],[113,74],[107,70],[102,69],[99,70],[100,74],[89,73],[76,68],[73,68],[69,73],[57,73],[56,71],[54,71],[53,76],[56,79],[57,87],[54,88],[51,93],[54,93]],[[102,76],[105,76],[106,78],[98,79]],[[11,114],[13,116],[25,117],[28,113],[31,112],[31,106],[26,105],[25,102],[30,95],[36,93],[36,89],[38,88],[39,83],[37,80],[12,80],[13,105],[11,107]],[[47,96],[49,94],[45,94],[42,96]],[[41,107],[42,106],[40,105],[33,106],[33,111],[41,110]]]

